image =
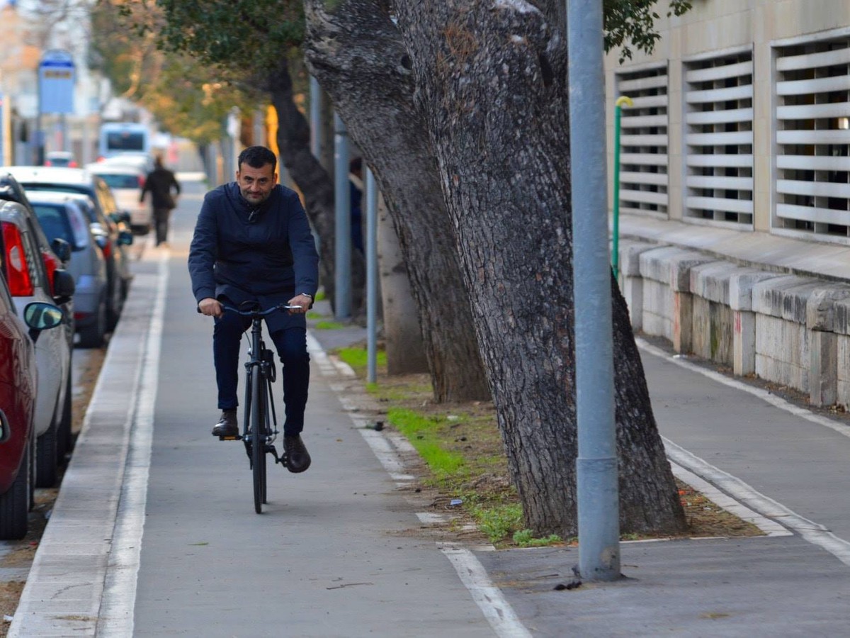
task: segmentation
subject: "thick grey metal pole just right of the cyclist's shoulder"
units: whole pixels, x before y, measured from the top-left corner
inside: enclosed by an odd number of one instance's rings
[[[335,316],[351,316],[351,192],[348,186],[348,131],[343,119],[333,115],[333,158],[336,202],[336,237],[333,277]]]

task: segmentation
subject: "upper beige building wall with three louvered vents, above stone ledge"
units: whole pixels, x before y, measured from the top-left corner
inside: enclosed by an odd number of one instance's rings
[[[607,59],[609,102],[634,103],[621,210],[850,243],[850,3],[695,0],[659,26]]]

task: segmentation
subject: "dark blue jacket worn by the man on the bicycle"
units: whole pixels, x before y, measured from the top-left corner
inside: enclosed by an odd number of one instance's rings
[[[249,221],[254,208],[235,182],[204,197],[189,251],[196,301],[224,295],[268,307],[296,294],[315,295],[319,255],[297,193],[275,185]]]

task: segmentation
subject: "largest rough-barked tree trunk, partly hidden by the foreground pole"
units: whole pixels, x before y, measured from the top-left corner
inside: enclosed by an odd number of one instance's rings
[[[536,533],[575,535],[564,29],[526,0],[395,6],[526,522]],[[679,531],[683,510],[613,279],[612,292],[621,529]]]

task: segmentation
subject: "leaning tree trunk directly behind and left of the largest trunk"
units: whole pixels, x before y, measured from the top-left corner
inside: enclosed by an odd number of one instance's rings
[[[455,236],[413,105],[410,60],[383,0],[306,0],[310,72],[363,151],[393,215],[422,322],[435,399],[489,398]]]

